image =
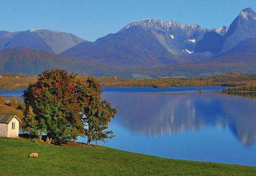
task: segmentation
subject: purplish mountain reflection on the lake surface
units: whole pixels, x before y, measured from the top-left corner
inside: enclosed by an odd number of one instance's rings
[[[229,129],[245,146],[256,140],[256,101],[221,92],[170,94],[106,94],[118,106],[116,123],[131,133],[157,137]]]

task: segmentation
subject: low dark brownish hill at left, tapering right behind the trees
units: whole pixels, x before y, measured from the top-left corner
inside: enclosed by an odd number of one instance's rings
[[[102,64],[28,48],[0,51],[0,72],[37,75],[45,69],[62,68],[68,72],[101,75],[122,75],[121,71]]]

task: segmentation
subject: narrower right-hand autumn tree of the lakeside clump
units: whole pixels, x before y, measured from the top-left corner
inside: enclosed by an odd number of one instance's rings
[[[105,141],[113,138],[113,131],[107,131],[111,119],[116,114],[116,109],[110,103],[101,100],[102,90],[100,84],[89,76],[85,82],[80,83],[80,101],[83,108],[84,135],[87,144],[91,141]]]

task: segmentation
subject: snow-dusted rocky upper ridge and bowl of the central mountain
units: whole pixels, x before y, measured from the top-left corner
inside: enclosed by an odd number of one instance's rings
[[[192,53],[196,42],[203,38],[206,31],[209,31],[199,25],[186,25],[176,21],[165,23],[159,19],[146,19],[128,24],[119,32],[126,30],[133,32],[132,26],[152,32],[155,39],[174,55],[183,54],[183,52]]]

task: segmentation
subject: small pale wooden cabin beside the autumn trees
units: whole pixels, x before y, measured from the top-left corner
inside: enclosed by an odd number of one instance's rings
[[[20,122],[16,115],[0,115],[0,137],[17,138]]]

